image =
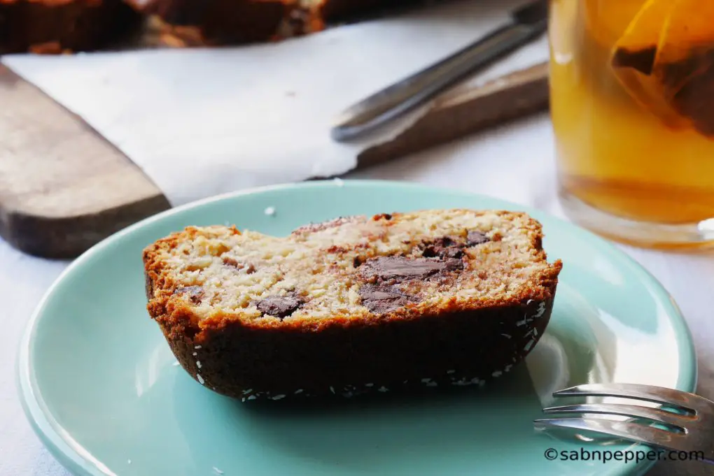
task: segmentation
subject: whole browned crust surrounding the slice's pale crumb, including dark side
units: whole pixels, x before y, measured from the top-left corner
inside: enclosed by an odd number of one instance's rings
[[[523,220],[536,259],[545,262],[543,234],[537,221],[523,213],[496,214]],[[398,220],[400,215],[380,214],[371,219]],[[350,222],[351,218],[342,218],[306,225],[293,234],[349,226]],[[241,234],[235,227],[229,230],[230,234]],[[206,233],[206,229],[188,227],[146,247],[148,310],[181,366],[194,379],[218,393],[243,399],[274,398],[296,390],[305,390],[301,395],[320,394],[335,386],[349,388],[367,383],[361,381],[364,378],[391,386],[398,375],[405,376],[404,380],[417,378],[415,371],[425,378],[433,376],[438,380],[441,376],[446,383],[451,379],[454,385],[463,379],[484,381],[502,372],[505,366],[520,363],[538,342],[550,319],[562,269],[560,260],[543,267],[518,294],[447,299],[428,308],[403,306],[381,315],[250,321],[239,313],[215,311],[202,317],[196,314],[191,301],[175,294],[181,284],[162,257],[179,244]],[[537,318],[533,318],[536,314]],[[389,335],[391,340],[385,338]],[[444,351],[441,344],[430,340],[434,335],[451,339],[450,345],[456,350]],[[418,363],[413,369],[403,364],[382,370],[384,361],[394,360],[394,351]],[[431,360],[422,361],[422,352]],[[367,358],[367,354],[371,357]],[[324,361],[333,361],[334,365],[325,367]],[[338,371],[333,372],[333,368]],[[447,370],[458,372],[443,374]]]

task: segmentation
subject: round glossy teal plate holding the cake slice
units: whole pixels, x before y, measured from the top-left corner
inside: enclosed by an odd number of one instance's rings
[[[543,223],[549,258],[564,262],[547,333],[526,365],[485,388],[329,407],[246,407],[174,366],[146,313],[141,250],[186,225],[231,222],[283,235],[339,215],[443,207],[525,210]],[[670,296],[602,239],[488,197],[359,181],[217,197],[106,239],[48,291],[18,361],[29,420],[82,476],[639,474],[652,462],[583,462],[570,451],[646,448],[554,438],[536,433],[532,420],[558,388],[621,381],[691,391],[696,373],[688,329]],[[555,460],[545,457],[550,448]]]

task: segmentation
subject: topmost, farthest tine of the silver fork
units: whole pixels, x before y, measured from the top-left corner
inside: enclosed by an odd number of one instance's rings
[[[638,383],[587,383],[553,393],[554,397],[619,397],[636,398],[664,405],[678,405],[685,410],[710,412],[714,403],[706,398],[672,388],[640,385]]]

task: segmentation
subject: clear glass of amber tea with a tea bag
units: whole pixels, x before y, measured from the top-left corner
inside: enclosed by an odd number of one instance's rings
[[[714,1],[550,0],[550,111],[571,219],[714,245]]]

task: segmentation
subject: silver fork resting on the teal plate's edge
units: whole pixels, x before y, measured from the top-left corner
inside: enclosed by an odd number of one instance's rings
[[[634,383],[587,384],[565,388],[554,397],[616,397],[658,403],[657,408],[627,403],[581,403],[543,408],[550,415],[581,417],[535,420],[535,428],[566,428],[610,435],[661,450],[683,451],[714,464],[714,402],[693,393]],[[609,420],[619,415],[636,420]],[[642,421],[643,420],[643,421]],[[652,426],[658,424],[660,428]]]

